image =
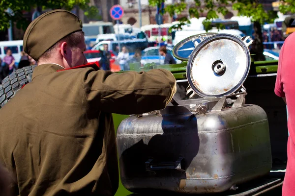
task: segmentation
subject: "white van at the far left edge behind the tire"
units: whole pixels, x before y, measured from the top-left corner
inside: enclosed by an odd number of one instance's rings
[[[11,49],[12,56],[15,59],[15,65],[17,66],[21,60],[21,51],[23,51],[23,40],[0,42],[0,58],[1,59],[3,59],[4,56],[6,55],[7,49]]]

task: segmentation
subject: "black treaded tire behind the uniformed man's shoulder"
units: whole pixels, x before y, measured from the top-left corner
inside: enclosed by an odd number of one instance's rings
[[[37,66],[33,65],[18,69],[2,80],[0,84],[0,108],[12,99],[25,84],[32,81],[35,67]]]

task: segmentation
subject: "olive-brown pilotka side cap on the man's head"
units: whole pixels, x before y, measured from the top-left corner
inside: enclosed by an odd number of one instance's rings
[[[24,51],[37,61],[60,39],[80,30],[82,22],[73,13],[63,9],[46,12],[28,26],[24,35]]]

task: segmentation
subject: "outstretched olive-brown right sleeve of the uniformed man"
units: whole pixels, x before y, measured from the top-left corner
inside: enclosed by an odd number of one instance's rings
[[[82,85],[90,107],[109,113],[142,114],[166,107],[176,93],[170,71],[83,73]]]

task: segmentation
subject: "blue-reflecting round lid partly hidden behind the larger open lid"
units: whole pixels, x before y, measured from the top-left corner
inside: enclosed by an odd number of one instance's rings
[[[201,33],[185,38],[173,48],[173,55],[178,60],[187,61],[192,51],[200,42],[215,34],[217,33]]]

